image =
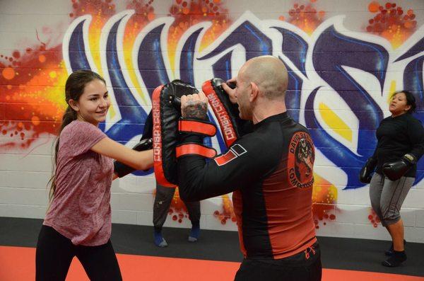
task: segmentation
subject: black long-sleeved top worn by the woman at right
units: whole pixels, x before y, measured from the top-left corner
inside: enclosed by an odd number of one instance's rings
[[[405,154],[413,154],[417,161],[424,153],[424,129],[420,120],[405,113],[397,117],[387,117],[377,128],[376,172],[382,174],[382,166],[390,161],[398,161]],[[415,178],[417,166],[413,165],[404,176]]]

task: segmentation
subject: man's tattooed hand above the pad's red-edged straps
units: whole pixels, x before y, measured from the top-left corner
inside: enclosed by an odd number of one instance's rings
[[[181,97],[181,115],[185,118],[206,119],[208,98],[203,92]]]

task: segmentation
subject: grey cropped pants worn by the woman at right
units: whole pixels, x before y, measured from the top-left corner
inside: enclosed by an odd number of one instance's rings
[[[399,211],[414,180],[415,178],[401,177],[391,181],[379,173],[374,173],[370,183],[371,206],[383,226],[399,222]]]

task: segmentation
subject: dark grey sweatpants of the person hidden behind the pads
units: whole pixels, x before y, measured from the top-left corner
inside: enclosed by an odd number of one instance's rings
[[[156,231],[162,229],[165,223],[167,213],[170,210],[172,197],[174,197],[175,188],[166,188],[156,183],[155,202],[153,203],[153,226]],[[193,226],[199,226],[200,222],[200,202],[184,202],[189,211],[189,218]]]

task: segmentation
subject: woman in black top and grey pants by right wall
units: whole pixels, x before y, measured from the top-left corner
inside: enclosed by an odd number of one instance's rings
[[[370,183],[372,209],[391,236],[391,248],[386,251],[389,258],[382,262],[388,267],[406,260],[404,222],[399,210],[416,178],[416,163],[424,153],[423,125],[411,114],[415,109],[412,93],[399,91],[391,96],[391,116],[377,128],[377,148],[360,173],[360,180]]]

